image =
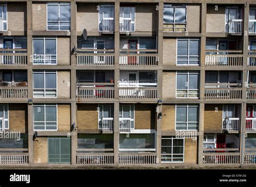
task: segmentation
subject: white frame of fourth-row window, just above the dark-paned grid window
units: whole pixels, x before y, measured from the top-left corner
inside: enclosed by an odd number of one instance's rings
[[[186,121],[177,121],[177,107],[186,107],[186,110],[187,110]],[[175,131],[198,131],[199,130],[199,121],[188,121],[188,107],[197,107],[199,109],[198,105],[191,105],[191,104],[175,105]],[[199,115],[199,111],[198,111],[198,115]],[[186,124],[186,130],[177,130],[177,123]],[[197,124],[198,130],[188,130],[187,127],[188,127],[188,124],[190,123]]]

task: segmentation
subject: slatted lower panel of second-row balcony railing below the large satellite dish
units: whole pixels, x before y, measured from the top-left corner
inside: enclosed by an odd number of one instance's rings
[[[77,65],[109,66],[114,64],[114,55],[109,53],[79,53]]]

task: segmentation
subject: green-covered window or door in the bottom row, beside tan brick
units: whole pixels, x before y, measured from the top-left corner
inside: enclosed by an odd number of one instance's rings
[[[70,163],[71,141],[67,137],[48,138],[48,163]]]

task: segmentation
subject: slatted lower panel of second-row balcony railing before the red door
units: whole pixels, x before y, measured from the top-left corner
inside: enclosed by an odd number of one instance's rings
[[[158,54],[120,54],[119,64],[123,66],[157,66]]]

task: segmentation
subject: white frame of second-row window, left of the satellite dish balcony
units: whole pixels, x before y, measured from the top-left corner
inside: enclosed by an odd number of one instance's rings
[[[34,45],[34,42],[33,42],[34,39],[35,40],[37,40],[37,39],[41,39],[41,40],[43,39],[44,40],[44,54],[43,55],[41,55],[41,54],[33,54],[33,51],[32,51],[32,55],[33,55],[32,62],[33,62],[33,64],[34,65],[41,65],[41,64],[45,65],[46,64],[46,65],[56,66],[58,64],[58,42],[57,42],[57,37],[55,37],[55,38],[46,38],[46,37],[44,37],[44,38],[33,38],[32,39],[32,50],[33,50],[33,45]],[[46,55],[45,54],[45,39],[52,39],[52,40],[56,41],[56,55]],[[37,59],[35,56],[43,56],[43,59]],[[56,63],[49,63],[49,62],[47,62],[47,61],[49,61],[49,56],[56,56]],[[34,62],[35,60],[43,60],[44,62],[43,63],[35,63]]]

